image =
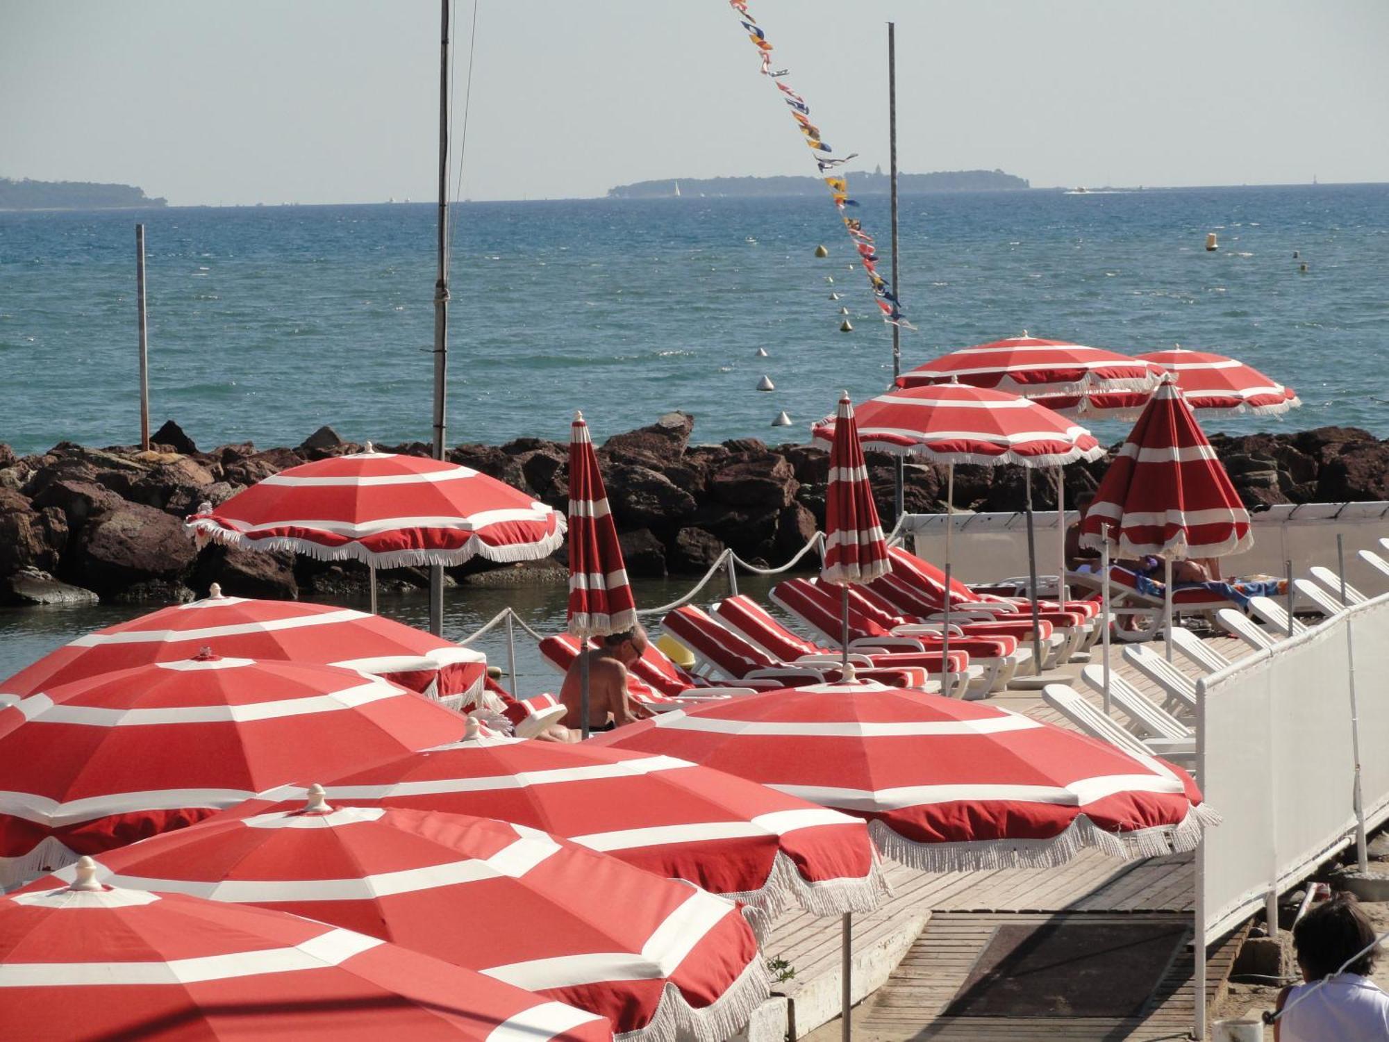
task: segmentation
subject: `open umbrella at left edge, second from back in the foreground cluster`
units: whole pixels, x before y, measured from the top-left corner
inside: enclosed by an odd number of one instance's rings
[[[0,710],[0,885],[465,729],[332,665],[200,654],[58,685]]]

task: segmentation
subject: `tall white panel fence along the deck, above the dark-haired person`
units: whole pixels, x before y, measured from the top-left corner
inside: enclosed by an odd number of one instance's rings
[[[1367,827],[1389,817],[1389,595],[1200,679],[1197,702],[1201,789],[1225,818],[1197,853],[1211,943],[1354,842],[1357,736]]]

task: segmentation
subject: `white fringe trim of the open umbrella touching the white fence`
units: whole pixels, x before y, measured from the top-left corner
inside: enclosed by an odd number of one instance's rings
[[[1057,868],[1086,849],[1111,857],[1135,860],[1164,857],[1195,850],[1206,828],[1221,817],[1204,803],[1190,807],[1175,825],[1108,832],[1085,814],[1051,839],[989,839],[965,843],[918,843],[895,832],[882,821],[870,821],[868,831],[886,857],[922,873],[960,873],[997,868]]]

